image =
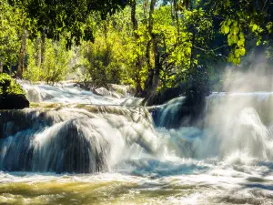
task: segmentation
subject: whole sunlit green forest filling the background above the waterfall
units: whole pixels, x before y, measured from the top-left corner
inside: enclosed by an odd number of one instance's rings
[[[201,100],[258,55],[272,72],[272,0],[2,0],[0,22],[0,72],[131,85],[147,104]]]

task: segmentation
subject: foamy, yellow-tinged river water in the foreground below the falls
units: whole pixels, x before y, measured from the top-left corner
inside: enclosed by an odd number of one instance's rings
[[[273,204],[272,164],[228,166],[183,159],[139,163],[147,171],[136,174],[137,168],[131,167],[95,175],[2,172],[0,202]]]

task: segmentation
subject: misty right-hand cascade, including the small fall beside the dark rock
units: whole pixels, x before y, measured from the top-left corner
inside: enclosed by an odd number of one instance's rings
[[[273,159],[273,93],[213,93],[201,126],[177,127],[177,119],[187,120],[180,111],[184,99],[151,108],[157,130],[169,138],[177,156],[243,164]]]

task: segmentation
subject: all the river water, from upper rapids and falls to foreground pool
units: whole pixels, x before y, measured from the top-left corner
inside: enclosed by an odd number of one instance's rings
[[[184,97],[150,115],[121,106],[138,99],[25,87],[70,104],[0,112],[0,203],[273,204],[273,93],[214,93],[179,127]]]

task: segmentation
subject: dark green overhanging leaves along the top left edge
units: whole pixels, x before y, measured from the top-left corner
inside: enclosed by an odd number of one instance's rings
[[[116,10],[126,5],[126,1],[120,0],[66,0],[66,1],[47,1],[47,0],[10,0],[12,5],[20,6],[31,24],[35,24],[36,31],[46,30],[48,38],[59,39],[66,33],[67,46],[71,47],[73,41],[77,45],[81,40],[94,40],[92,26],[88,20],[94,12],[106,18],[107,14],[115,14]]]

